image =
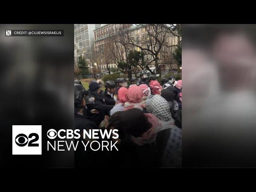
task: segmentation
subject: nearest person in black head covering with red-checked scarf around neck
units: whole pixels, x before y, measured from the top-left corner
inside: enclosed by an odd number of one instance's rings
[[[122,112],[120,118],[124,130],[130,134],[132,142],[136,144],[138,167],[162,167],[163,162],[166,165],[166,162],[175,160],[173,154],[181,148],[179,128],[170,126],[163,130],[156,116],[145,114],[136,108]],[[171,163],[168,165],[173,166]]]

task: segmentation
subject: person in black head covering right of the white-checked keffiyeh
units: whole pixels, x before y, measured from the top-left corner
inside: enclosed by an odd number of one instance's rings
[[[161,96],[167,100],[170,106],[170,112],[172,118],[175,120],[175,125],[178,128],[182,128],[182,109],[179,108],[179,104],[176,101],[178,92],[172,87],[162,90]]]

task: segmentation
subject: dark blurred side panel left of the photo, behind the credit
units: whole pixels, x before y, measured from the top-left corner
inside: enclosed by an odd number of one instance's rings
[[[63,37],[6,37],[6,29],[60,29]],[[74,122],[74,25],[0,25],[0,167],[72,167],[47,152],[47,130]],[[42,125],[42,155],[12,155],[12,125]]]

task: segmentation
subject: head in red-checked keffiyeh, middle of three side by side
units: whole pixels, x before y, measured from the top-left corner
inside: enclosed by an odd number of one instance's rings
[[[132,86],[128,88],[128,92],[126,94],[127,101],[124,103],[124,110],[139,108],[143,110],[145,105],[142,103],[143,92],[139,86]]]

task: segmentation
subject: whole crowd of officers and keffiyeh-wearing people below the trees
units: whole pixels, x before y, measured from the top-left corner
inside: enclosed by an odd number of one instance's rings
[[[140,74],[74,81],[75,129],[117,129],[116,152],[76,152],[76,166],[181,167],[182,80]],[[105,91],[101,88],[105,86]]]

